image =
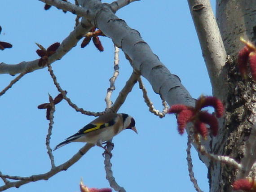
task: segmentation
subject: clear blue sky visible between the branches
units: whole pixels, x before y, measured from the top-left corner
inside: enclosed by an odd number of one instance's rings
[[[215,4],[213,8],[215,10]],[[0,26],[3,28],[0,40],[13,44],[13,48],[0,51],[0,62],[8,64],[38,59],[35,43],[47,48],[55,42],[62,42],[75,25],[75,15],[64,14],[54,7],[45,11],[44,4],[38,0],[1,0],[0,11]],[[201,94],[212,95],[187,1],[141,0],[116,14],[140,32],[142,39],[171,73],[180,77],[194,98]],[[106,108],[104,98],[114,71],[112,41],[106,37],[100,39],[104,52],[99,52],[92,42],[82,49],[80,41],[62,60],[52,65],[58,82],[68,91],[67,96],[79,107],[95,112]],[[119,67],[112,100],[132,73],[123,52],[120,52]],[[14,77],[9,74],[1,74],[0,89],[12,79]],[[162,110],[159,95],[152,91],[146,79],[143,80],[154,106]],[[48,102],[48,93],[52,96],[58,94],[44,68],[26,74],[0,97],[0,171],[3,174],[30,176],[49,171],[50,161],[45,146],[49,121],[45,118],[45,110],[37,109],[38,105]],[[127,192],[195,191],[187,170],[187,135],[178,134],[175,116],[160,119],[150,113],[138,84],[119,113],[128,113],[135,118],[138,135],[125,130],[113,140],[115,148],[111,162],[116,181]],[[94,119],[75,112],[65,100],[56,105],[54,116],[52,148]],[[83,143],[72,143],[54,151],[56,164],[65,162],[83,146]],[[102,153],[102,148],[94,147],[75,165],[48,181],[31,182],[6,191],[79,192],[81,178],[88,187],[108,187]],[[192,155],[195,177],[201,189],[208,192],[207,168],[194,148]],[[0,183],[4,184],[1,180]]]

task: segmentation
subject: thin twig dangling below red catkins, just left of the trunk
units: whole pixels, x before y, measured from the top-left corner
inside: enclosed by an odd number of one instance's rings
[[[192,164],[192,158],[191,158],[191,153],[190,153],[190,149],[191,149],[191,142],[192,142],[192,134],[193,131],[191,130],[188,133],[188,142],[187,142],[187,163],[188,163],[188,170],[189,170],[189,176],[190,176],[190,181],[193,183],[194,188],[197,192],[203,192],[200,187],[198,186],[197,180],[194,177],[194,172],[193,172],[193,164]]]

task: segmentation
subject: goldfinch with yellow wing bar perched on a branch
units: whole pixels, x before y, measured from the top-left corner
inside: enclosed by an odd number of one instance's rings
[[[84,126],[74,135],[66,138],[53,151],[71,142],[86,142],[102,147],[102,142],[112,139],[124,129],[131,129],[137,133],[135,121],[130,115],[125,113],[106,113]]]

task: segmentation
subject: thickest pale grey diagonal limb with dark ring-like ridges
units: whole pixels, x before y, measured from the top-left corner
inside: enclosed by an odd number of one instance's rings
[[[110,37],[117,47],[122,48],[134,70],[150,82],[154,92],[160,94],[163,100],[166,100],[169,105],[194,105],[194,99],[181,85],[180,79],[171,74],[159,61],[148,44],[141,39],[138,31],[131,29],[124,20],[113,14],[109,6],[101,4],[100,1],[78,0],[78,2],[92,10],[93,25]]]

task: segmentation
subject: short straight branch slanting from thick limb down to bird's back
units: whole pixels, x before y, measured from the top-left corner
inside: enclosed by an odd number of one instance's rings
[[[132,87],[135,85],[135,83],[137,83],[139,77],[140,77],[140,74],[138,74],[135,71],[132,72],[130,78],[125,83],[124,88],[121,90],[121,92],[119,92],[119,96],[115,100],[115,103],[110,108],[112,112],[116,113],[121,107],[121,105],[123,105],[128,93],[132,91]]]

